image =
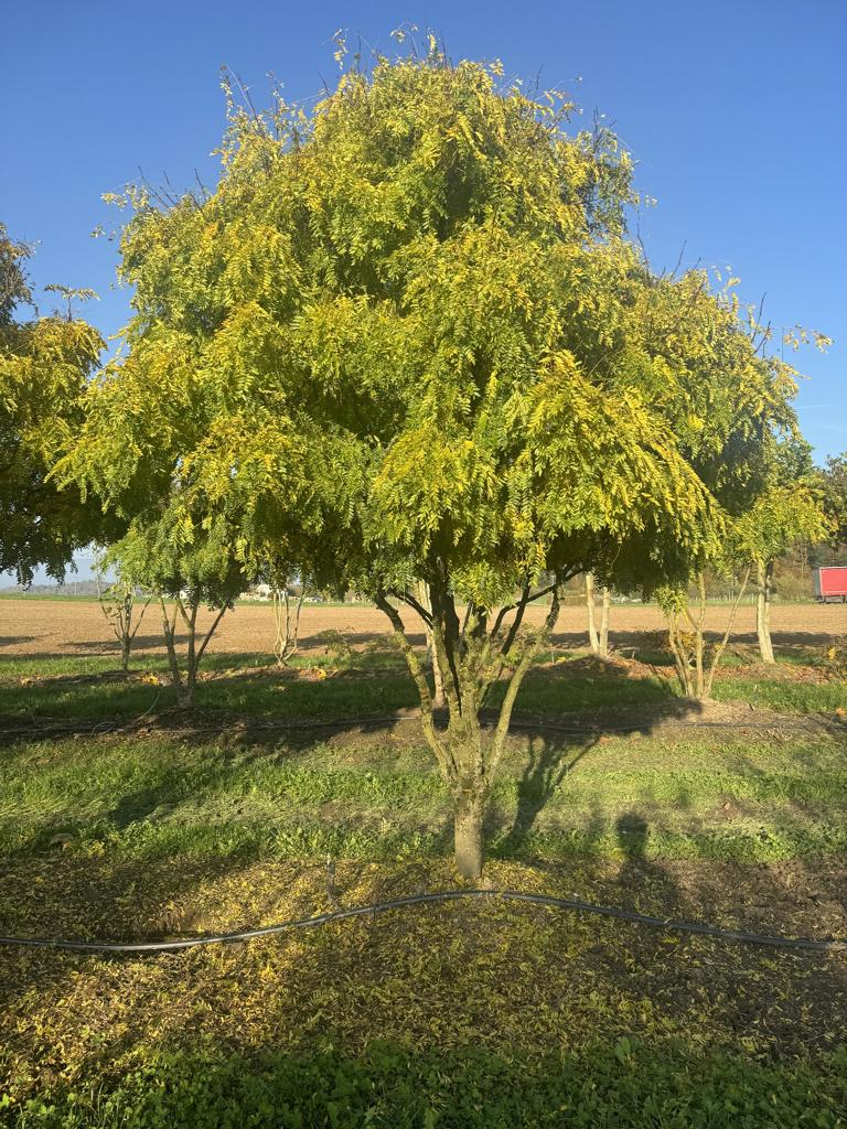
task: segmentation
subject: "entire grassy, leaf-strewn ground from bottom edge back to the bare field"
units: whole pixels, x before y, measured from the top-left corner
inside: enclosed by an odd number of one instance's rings
[[[93,664],[3,671],[7,728],[80,732],[0,745],[2,933],[177,938],[457,885],[391,653],[224,656],[187,718],[160,664]],[[844,683],[733,666],[716,697],[534,669],[484,882],[846,936]],[[847,1126],[845,954],[496,898],[159,957],[5,948],[0,1005],[0,1110],[33,1129]]]

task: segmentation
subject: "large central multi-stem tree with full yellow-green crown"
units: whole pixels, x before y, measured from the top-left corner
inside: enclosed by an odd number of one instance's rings
[[[430,45],[353,67],[311,114],[230,100],[211,195],[124,200],[137,314],[80,440],[122,505],[178,467],[246,558],[274,544],[320,585],[373,597],[468,877],[561,584],[686,579],[724,520],[687,447],[730,476],[727,448],[752,452],[783,402],[702,279],[655,279],[627,239],[614,137],[569,133],[566,102],[500,75]],[[646,291],[670,334],[641,325]],[[711,401],[733,396],[748,422],[718,435]],[[445,727],[409,610],[431,632]]]

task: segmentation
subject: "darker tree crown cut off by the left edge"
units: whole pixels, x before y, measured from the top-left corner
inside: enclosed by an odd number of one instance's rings
[[[71,316],[70,301],[90,291],[62,288],[66,317],[36,312],[18,321],[32,305],[30,253],[0,224],[0,572],[15,571],[20,584],[38,564],[61,580],[73,551],[107,532],[94,499],[84,502],[78,489],[60,490],[51,479],[58,447],[82,422],[86,384],[104,348],[95,329]]]

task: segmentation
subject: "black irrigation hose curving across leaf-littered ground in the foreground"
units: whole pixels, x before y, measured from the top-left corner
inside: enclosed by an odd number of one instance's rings
[[[376,916],[377,913],[385,913],[387,910],[403,909],[407,905],[417,905],[425,902],[454,902],[463,898],[498,898],[503,901],[552,905],[562,910],[617,918],[620,921],[635,921],[638,925],[647,925],[656,929],[667,929],[674,933],[695,933],[706,937],[718,937],[722,940],[737,940],[749,945],[812,949],[819,953],[847,952],[847,940],[813,940],[810,937],[778,937],[768,936],[767,934],[741,933],[735,929],[721,929],[718,926],[704,925],[698,921],[675,921],[672,918],[648,917],[645,913],[615,909],[611,905],[594,905],[591,902],[551,898],[548,894],[527,894],[514,890],[446,890],[443,893],[412,894],[409,898],[396,898],[393,901],[377,902],[374,905],[357,905],[352,909],[321,913],[317,917],[298,918],[294,921],[283,921],[280,925],[269,925],[261,929],[243,929],[238,933],[211,934],[206,937],[186,937],[183,940],[149,940],[115,944],[94,940],[52,940],[47,937],[0,937],[0,945],[20,945],[29,948],[61,948],[81,953],[173,953],[182,948],[195,948],[199,945],[222,945],[233,942],[252,940],[254,937],[270,937],[274,934],[285,933],[287,929],[309,929],[318,925],[329,925],[332,921],[343,921],[347,918]]]

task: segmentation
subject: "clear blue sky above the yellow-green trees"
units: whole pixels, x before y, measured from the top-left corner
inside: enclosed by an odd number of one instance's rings
[[[391,52],[408,20],[454,59],[500,58],[571,91],[586,121],[605,114],[658,201],[640,221],[654,266],[681,251],[683,265],[731,264],[775,326],[835,339],[800,356],[798,408],[820,462],[847,449],[847,0],[5,0],[0,220],[38,242],[36,286],[93,287],[86,316],[114,333],[129,296],[113,289],[114,245],[90,238],[117,220],[101,194],[139,168],[177,189],[195,169],[213,183],[220,65],[259,105],[269,72],[309,98],[334,84],[337,28]]]

